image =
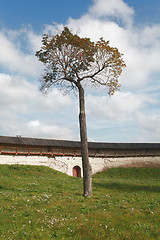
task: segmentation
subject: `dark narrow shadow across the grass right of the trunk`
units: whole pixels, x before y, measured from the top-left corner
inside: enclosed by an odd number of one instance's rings
[[[138,185],[138,184],[131,184],[131,183],[94,183],[94,187],[99,188],[106,188],[106,189],[113,189],[117,191],[124,191],[124,192],[159,192],[160,193],[160,186],[147,186],[147,185]]]

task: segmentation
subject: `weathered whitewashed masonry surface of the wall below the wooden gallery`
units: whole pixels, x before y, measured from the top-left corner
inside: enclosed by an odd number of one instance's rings
[[[155,157],[90,157],[93,174],[113,167],[160,167],[160,156]],[[79,166],[82,169],[81,157],[71,156],[21,156],[0,155],[0,164],[23,164],[48,166],[57,171],[73,175],[72,169]],[[81,173],[83,176],[83,173]]]

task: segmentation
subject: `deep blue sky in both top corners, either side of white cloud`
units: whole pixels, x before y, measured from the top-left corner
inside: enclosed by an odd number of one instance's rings
[[[66,23],[69,17],[79,18],[87,12],[92,0],[5,0],[0,2],[0,23],[2,26],[17,29],[22,24],[31,24],[40,31],[44,24],[52,22]],[[137,23],[159,22],[159,0],[126,0],[136,11]]]

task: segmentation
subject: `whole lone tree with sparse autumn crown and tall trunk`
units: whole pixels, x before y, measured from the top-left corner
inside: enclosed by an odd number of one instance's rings
[[[67,92],[73,90],[79,93],[83,189],[84,196],[91,196],[92,168],[88,158],[84,86],[87,82],[102,85],[107,87],[109,95],[113,95],[120,87],[118,78],[125,67],[122,54],[103,38],[92,42],[64,27],[60,34],[43,36],[42,47],[36,56],[45,65],[41,78],[42,91],[56,86]]]

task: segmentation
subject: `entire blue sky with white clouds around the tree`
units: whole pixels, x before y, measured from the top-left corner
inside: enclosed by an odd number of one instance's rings
[[[39,91],[35,52],[63,26],[124,54],[121,90],[86,89],[88,138],[160,142],[159,0],[0,1],[0,135],[79,139],[78,100]]]

